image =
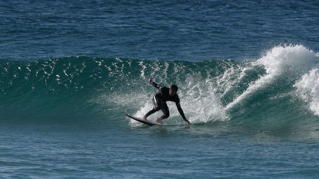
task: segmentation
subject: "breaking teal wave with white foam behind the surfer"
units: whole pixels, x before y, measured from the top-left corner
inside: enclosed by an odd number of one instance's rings
[[[153,77],[160,85],[179,86],[182,108],[192,123],[317,120],[318,62],[318,53],[303,45],[276,46],[247,61],[1,60],[0,118],[59,122],[141,116],[152,108],[156,89],[148,78]],[[172,119],[167,122],[181,123],[175,104],[168,106]]]

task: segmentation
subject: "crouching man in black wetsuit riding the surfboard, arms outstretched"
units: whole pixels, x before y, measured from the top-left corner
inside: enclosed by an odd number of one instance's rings
[[[163,115],[160,118],[158,118],[156,120],[156,122],[162,124],[163,122],[161,120],[166,119],[167,117],[169,117],[169,110],[168,110],[166,101],[173,101],[173,102],[175,102],[176,107],[178,109],[178,112],[180,112],[180,114],[183,117],[184,121],[187,124],[190,124],[189,121],[186,119],[186,117],[184,115],[184,112],[183,112],[183,110],[181,108],[180,98],[176,94],[176,92],[178,90],[178,87],[176,85],[171,85],[170,88],[162,87],[162,86],[156,84],[153,81],[153,78],[150,78],[149,82],[150,82],[150,84],[153,87],[159,89],[160,91],[153,97],[153,104],[154,104],[155,107],[151,111],[147,112],[143,116],[143,119],[146,120],[146,118],[149,115],[153,114],[154,112],[158,112],[158,111],[161,110],[163,112]]]

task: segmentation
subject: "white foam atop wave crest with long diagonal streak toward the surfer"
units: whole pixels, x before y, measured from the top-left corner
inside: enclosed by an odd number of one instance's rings
[[[301,76],[318,63],[318,55],[303,45],[276,46],[256,63],[265,67],[266,75],[251,83],[241,95],[227,105],[226,110],[241,103],[254,92],[267,87],[280,75]]]

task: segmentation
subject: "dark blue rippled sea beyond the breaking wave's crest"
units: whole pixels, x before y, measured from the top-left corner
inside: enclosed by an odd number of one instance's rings
[[[0,58],[251,59],[279,44],[318,51],[318,1],[0,2]]]

